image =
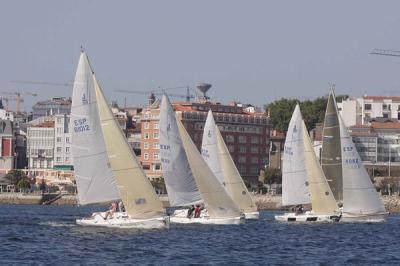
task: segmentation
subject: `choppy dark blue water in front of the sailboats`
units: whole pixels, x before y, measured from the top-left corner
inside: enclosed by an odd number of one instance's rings
[[[0,264],[399,265],[400,216],[382,224],[171,225],[138,231],[75,225],[93,208],[0,205]]]

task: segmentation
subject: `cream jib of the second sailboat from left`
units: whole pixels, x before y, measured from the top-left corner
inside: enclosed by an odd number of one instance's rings
[[[190,169],[211,218],[233,218],[241,215],[228,193],[204,161],[185,127],[176,119]]]

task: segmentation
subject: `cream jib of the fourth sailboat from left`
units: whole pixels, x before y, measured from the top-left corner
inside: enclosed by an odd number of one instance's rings
[[[304,121],[302,123],[302,128],[305,165],[310,184],[309,188],[312,210],[315,214],[337,214],[339,212],[338,204],[336,203],[332,190],[326,181],[319,160],[315,155]]]

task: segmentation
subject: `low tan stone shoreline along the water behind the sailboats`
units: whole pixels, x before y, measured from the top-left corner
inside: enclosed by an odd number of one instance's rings
[[[60,194],[24,194],[24,193],[0,193],[0,205],[2,204],[26,204],[26,205],[40,205],[46,201],[55,199],[52,205],[77,205],[78,201],[75,195],[62,195]],[[57,199],[56,199],[57,198]],[[390,213],[400,213],[400,197],[381,196],[385,208]],[[282,206],[282,197],[279,195],[253,195],[253,199],[259,210],[285,210]],[[164,207],[169,207],[168,197],[160,196]]]

